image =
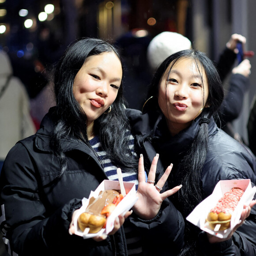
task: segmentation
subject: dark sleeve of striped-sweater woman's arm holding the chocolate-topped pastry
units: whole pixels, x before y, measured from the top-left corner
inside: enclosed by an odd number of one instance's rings
[[[17,155],[19,157],[15,157]],[[4,228],[14,252],[32,255],[38,248],[40,253],[47,252],[53,243],[56,244],[53,237],[62,239],[69,235],[72,211],[80,201],[74,200],[49,214],[40,198],[33,164],[22,144],[16,144],[8,154],[0,183],[1,204],[4,204],[6,216]]]

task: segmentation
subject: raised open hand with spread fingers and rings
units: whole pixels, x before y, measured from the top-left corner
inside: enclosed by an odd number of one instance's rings
[[[151,168],[148,174],[148,180],[146,182],[145,171],[144,171],[144,162],[143,156],[139,158],[139,172],[138,180],[139,186],[137,190],[137,197],[139,198],[135,205],[132,207],[132,210],[142,219],[149,220],[154,218],[158,211],[160,210],[162,201],[165,200],[168,196],[176,193],[180,188],[177,186],[166,192],[160,193],[163,185],[165,184],[173,165],[167,167],[165,173],[162,175],[157,184],[154,185],[155,172],[158,162],[158,154],[154,157]]]

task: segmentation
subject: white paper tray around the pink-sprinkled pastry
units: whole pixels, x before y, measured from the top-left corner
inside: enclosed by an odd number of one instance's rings
[[[214,231],[211,230],[209,227],[209,224],[206,222],[207,215],[209,211],[215,207],[218,200],[229,191],[231,188],[241,188],[244,190],[244,194],[241,197],[241,200],[237,204],[237,207],[233,211],[231,222],[230,222],[230,228],[227,230],[219,230]],[[208,196],[205,200],[203,200],[188,217],[186,218],[189,222],[193,223],[194,225],[200,227],[201,230],[206,231],[207,233],[210,233],[211,235],[214,235],[219,238],[226,238],[231,230],[233,230],[234,226],[236,226],[241,217],[241,212],[244,208],[244,205],[249,205],[249,203],[252,201],[253,196],[256,192],[256,187],[254,186],[252,188],[251,180],[225,180],[225,181],[219,181],[214,191],[210,196]]]

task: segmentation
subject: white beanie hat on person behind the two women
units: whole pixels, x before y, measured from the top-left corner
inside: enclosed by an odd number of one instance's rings
[[[175,32],[162,32],[155,36],[147,47],[147,59],[152,70],[170,55],[191,48],[191,41]]]

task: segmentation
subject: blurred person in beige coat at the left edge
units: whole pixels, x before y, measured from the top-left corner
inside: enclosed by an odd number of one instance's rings
[[[8,151],[20,139],[36,131],[30,116],[30,101],[25,86],[13,76],[11,61],[0,51],[0,170]]]

